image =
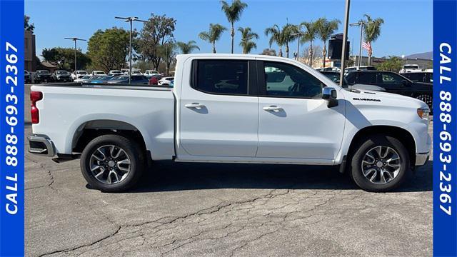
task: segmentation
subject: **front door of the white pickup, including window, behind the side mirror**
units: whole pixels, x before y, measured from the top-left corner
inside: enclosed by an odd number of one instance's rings
[[[273,61],[258,61],[258,67],[263,76],[258,76],[256,156],[335,159],[346,120],[343,99],[328,108],[327,101],[321,99],[326,85],[301,67]]]

